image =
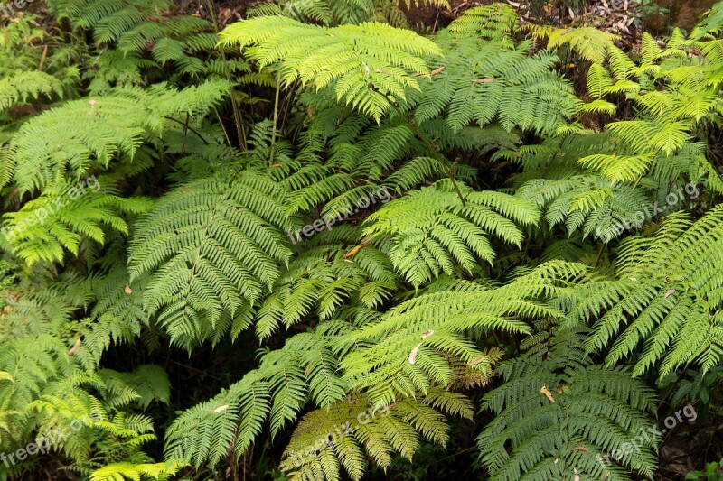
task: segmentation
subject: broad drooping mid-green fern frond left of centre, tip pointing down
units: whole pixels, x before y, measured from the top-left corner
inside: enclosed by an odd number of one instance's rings
[[[240,172],[179,187],[136,223],[131,281],[150,273],[145,306],[159,311],[175,343],[218,342],[243,322],[244,303],[271,288],[291,254],[282,201],[272,181]]]

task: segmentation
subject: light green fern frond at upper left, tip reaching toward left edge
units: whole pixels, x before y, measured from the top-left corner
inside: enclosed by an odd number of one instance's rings
[[[204,115],[228,89],[222,80],[178,91],[164,85],[119,89],[71,101],[23,125],[11,145],[14,179],[23,191],[66,175],[81,179],[112,161],[131,162],[146,140],[163,133],[166,117]]]

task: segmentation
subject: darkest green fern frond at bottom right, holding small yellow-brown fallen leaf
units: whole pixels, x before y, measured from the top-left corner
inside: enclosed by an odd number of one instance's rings
[[[633,479],[628,469],[653,477],[653,391],[624,369],[593,365],[583,338],[580,329],[538,332],[531,355],[498,366],[504,384],[482,406],[495,417],[477,439],[491,479]],[[642,446],[613,457],[636,437]]]

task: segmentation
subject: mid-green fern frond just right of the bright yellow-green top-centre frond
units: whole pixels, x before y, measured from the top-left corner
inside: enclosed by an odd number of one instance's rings
[[[530,57],[531,44],[514,47],[510,37],[484,42],[463,35],[465,29],[455,25],[464,26],[466,15],[476,21],[474,9],[471,12],[452,23],[449,32],[437,34],[436,41],[447,54],[444,60],[430,60],[434,75],[418,99],[419,123],[447,109],[447,125],[455,132],[472,121],[482,126],[495,120],[508,131],[520,127],[551,132],[576,113],[579,102],[572,89],[551,69],[557,61],[554,55],[543,52]],[[454,33],[457,30],[459,34]]]

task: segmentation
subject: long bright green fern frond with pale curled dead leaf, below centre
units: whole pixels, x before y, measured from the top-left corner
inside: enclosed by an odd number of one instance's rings
[[[459,282],[389,310],[349,337],[356,349],[343,360],[347,376],[358,378],[355,387],[368,390],[371,401],[389,404],[398,395],[453,383],[452,359],[489,375],[499,353],[480,351],[465,333],[479,338],[492,329],[528,332],[522,319],[557,316],[534,301],[536,295],[556,291],[550,273],[569,279],[580,274],[575,267],[553,263],[494,290]]]

